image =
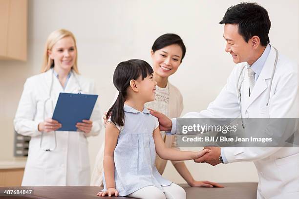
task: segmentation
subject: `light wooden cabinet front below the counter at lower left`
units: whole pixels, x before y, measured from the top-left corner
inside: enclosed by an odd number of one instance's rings
[[[21,186],[24,168],[0,169],[0,187]]]

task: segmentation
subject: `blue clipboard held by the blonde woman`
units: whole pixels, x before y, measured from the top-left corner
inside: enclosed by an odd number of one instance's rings
[[[52,119],[62,124],[57,131],[77,131],[76,123],[90,119],[98,95],[60,93]]]

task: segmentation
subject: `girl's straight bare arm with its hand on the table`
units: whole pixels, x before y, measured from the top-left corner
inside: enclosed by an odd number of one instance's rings
[[[117,144],[119,129],[111,122],[107,122],[105,130],[104,173],[107,190],[115,189],[114,181],[114,149]]]

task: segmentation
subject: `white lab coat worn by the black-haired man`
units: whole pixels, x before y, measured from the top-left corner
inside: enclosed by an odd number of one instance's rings
[[[183,118],[240,117],[236,82],[243,66],[243,77],[240,78],[244,78],[241,87],[243,118],[299,118],[298,65],[280,54],[272,81],[270,103],[266,106],[275,57],[276,51],[271,47],[250,97],[247,63],[244,62],[235,66],[227,84],[207,110],[187,113]],[[259,177],[258,199],[299,199],[299,148],[223,148],[222,152],[229,163],[255,163]]]

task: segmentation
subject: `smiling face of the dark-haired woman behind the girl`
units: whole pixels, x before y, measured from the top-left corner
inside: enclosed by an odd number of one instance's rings
[[[154,74],[162,78],[171,76],[181,64],[182,54],[182,49],[177,44],[166,46],[155,52],[151,50]]]

